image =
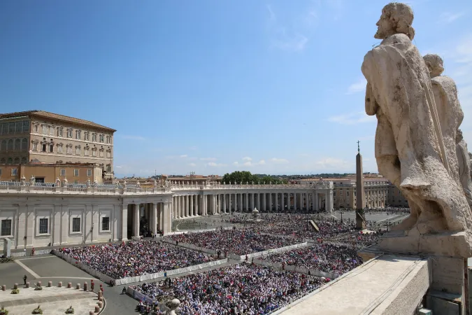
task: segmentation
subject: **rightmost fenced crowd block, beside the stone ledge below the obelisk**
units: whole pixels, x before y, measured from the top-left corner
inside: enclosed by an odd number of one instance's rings
[[[276,253],[262,259],[335,274],[344,274],[362,265],[362,258],[357,255],[357,249],[337,244],[315,244],[310,247]]]

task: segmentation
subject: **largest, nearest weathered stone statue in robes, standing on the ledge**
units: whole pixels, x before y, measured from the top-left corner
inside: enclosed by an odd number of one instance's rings
[[[410,6],[387,4],[374,36],[382,42],[367,52],[362,64],[366,113],[378,121],[378,170],[410,205],[410,216],[397,225],[400,230],[420,235],[467,230],[464,251],[470,253],[471,211],[450,173],[429,69],[412,43],[412,23]]]

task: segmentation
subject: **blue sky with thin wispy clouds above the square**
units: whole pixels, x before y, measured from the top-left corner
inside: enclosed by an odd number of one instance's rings
[[[113,127],[115,173],[376,172],[362,60],[387,1],[0,1],[0,112]],[[472,1],[408,1],[472,141]]]

